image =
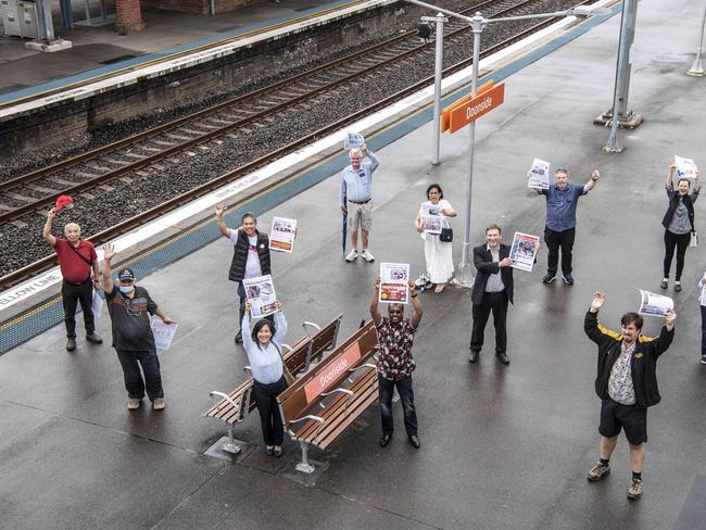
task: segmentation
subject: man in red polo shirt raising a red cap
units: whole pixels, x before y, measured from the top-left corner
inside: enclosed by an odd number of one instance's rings
[[[98,276],[98,255],[90,241],[80,237],[80,227],[76,223],[64,226],[64,238],[51,235],[51,225],[55,213],[51,210],[47,214],[47,223],[41,230],[41,237],[54,248],[59,258],[59,267],[64,281],[61,288],[61,298],[64,304],[64,324],[66,325],[66,350],[76,350],[76,303],[80,302],[86,326],[86,340],[93,344],[101,344],[103,339],[96,335],[93,311],[91,302],[93,289],[100,287]],[[91,282],[91,270],[92,282]],[[91,287],[92,283],[92,287]]]

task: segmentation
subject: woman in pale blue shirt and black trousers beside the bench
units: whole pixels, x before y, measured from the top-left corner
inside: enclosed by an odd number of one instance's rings
[[[248,353],[252,369],[252,398],[257,404],[265,449],[268,455],[281,456],[285,429],[277,405],[277,396],[287,388],[285,368],[281,357],[281,345],[287,335],[285,313],[277,313],[277,324],[261,319],[255,323],[251,335],[250,303],[245,302],[245,314],[242,319],[242,345]]]

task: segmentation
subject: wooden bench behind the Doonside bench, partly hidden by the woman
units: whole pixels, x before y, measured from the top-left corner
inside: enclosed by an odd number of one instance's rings
[[[313,359],[320,359],[326,352],[336,348],[342,317],[343,315],[339,314],[323,327],[314,323],[304,323],[302,326],[306,337],[299,340],[293,346],[282,344],[285,350],[282,359],[290,374],[301,376],[308,370]],[[244,370],[250,374],[249,366],[245,366]],[[213,405],[202,414],[204,417],[225,421],[228,440],[220,449],[227,453],[240,453],[240,447],[235,443],[234,426],[244,420],[245,416],[256,408],[254,400],[250,399],[252,388],[253,381],[250,376],[229,394],[214,390],[210,394]]]

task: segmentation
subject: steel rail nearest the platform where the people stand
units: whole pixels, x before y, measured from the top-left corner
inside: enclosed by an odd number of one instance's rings
[[[486,56],[488,56],[488,55],[490,55],[492,53],[495,53],[496,51],[499,51],[499,50],[501,50],[503,48],[506,48],[506,47],[513,45],[514,42],[527,37],[528,35],[531,35],[531,34],[538,31],[539,29],[541,29],[543,27],[546,27],[546,26],[549,26],[549,25],[551,25],[553,23],[554,23],[554,20],[550,18],[547,21],[535,24],[535,25],[533,25],[533,26],[531,26],[531,27],[529,27],[527,29],[524,29],[522,31],[520,31],[520,33],[518,33],[518,34],[516,34],[516,35],[514,35],[514,36],[512,36],[512,37],[496,43],[496,45],[493,45],[492,47],[490,47],[490,48],[488,48],[488,49],[486,49],[483,51],[481,51],[480,56],[486,58]],[[455,72],[457,72],[459,70],[465,68],[470,63],[472,63],[471,58],[465,59],[465,60],[463,60],[463,61],[461,61],[461,62],[458,62],[458,63],[456,63],[456,64],[454,64],[452,66],[449,66],[449,67],[444,68],[443,70],[443,75],[453,74],[453,73],[455,73]],[[293,142],[291,142],[291,143],[289,143],[287,146],[278,148],[277,150],[275,150],[275,151],[273,151],[273,152],[270,152],[270,153],[268,153],[266,155],[263,155],[263,156],[259,157],[257,160],[249,162],[249,163],[234,169],[232,172],[220,175],[219,177],[216,177],[215,179],[210,180],[209,182],[205,182],[205,184],[203,184],[203,185],[201,185],[201,186],[199,186],[199,187],[197,187],[197,188],[194,188],[194,189],[192,189],[192,190],[190,190],[188,192],[185,192],[185,193],[182,193],[180,195],[172,198],[168,201],[163,202],[162,204],[160,204],[157,206],[154,206],[154,207],[152,207],[150,210],[147,210],[146,212],[143,212],[141,214],[138,214],[138,215],[136,215],[134,217],[125,219],[124,222],[122,222],[122,223],[119,223],[117,225],[114,225],[114,226],[112,226],[112,227],[110,227],[110,228],[108,228],[105,230],[97,232],[97,234],[92,235],[91,237],[89,237],[87,239],[92,241],[94,244],[98,244],[100,242],[109,241],[111,239],[114,239],[115,237],[117,237],[119,235],[123,235],[123,234],[125,234],[125,232],[127,232],[129,230],[133,230],[134,228],[139,227],[139,226],[143,225],[144,223],[148,223],[148,222],[163,215],[164,213],[174,210],[175,207],[181,206],[181,205],[192,201],[193,199],[199,198],[199,197],[212,191],[214,188],[218,188],[218,187],[220,187],[220,186],[223,186],[225,184],[228,184],[228,182],[230,182],[232,180],[236,180],[237,178],[239,178],[239,177],[241,177],[243,175],[247,175],[248,173],[251,173],[254,169],[268,164],[273,160],[276,160],[276,159],[280,157],[280,156],[283,156],[285,154],[288,154],[288,153],[290,153],[292,151],[295,151],[297,149],[301,149],[303,146],[306,146],[307,143],[311,143],[311,142],[317,140],[318,138],[320,138],[323,136],[326,136],[326,135],[328,135],[328,134],[330,134],[330,132],[332,132],[335,130],[338,130],[341,127],[343,127],[343,126],[345,126],[345,125],[348,125],[348,124],[350,124],[352,122],[355,122],[355,121],[357,121],[357,119],[360,119],[360,118],[362,118],[362,117],[364,117],[364,116],[366,116],[366,115],[368,115],[368,114],[370,114],[373,112],[376,112],[376,111],[378,111],[378,110],[380,110],[382,108],[386,108],[386,106],[390,105],[391,103],[394,103],[394,102],[409,96],[411,93],[414,93],[417,90],[419,90],[421,88],[425,88],[426,86],[428,86],[432,81],[433,81],[433,76],[429,76],[429,77],[427,77],[425,79],[421,79],[421,80],[417,81],[416,84],[414,84],[414,85],[412,85],[412,86],[409,86],[407,88],[404,88],[404,89],[402,89],[402,90],[400,90],[400,91],[398,91],[398,92],[395,92],[395,93],[393,93],[391,96],[388,96],[387,98],[374,103],[373,105],[369,105],[369,106],[367,106],[365,109],[356,111],[353,114],[337,121],[336,123],[329,124],[329,125],[316,130],[315,132],[306,135],[305,137],[300,138],[299,140],[295,140],[295,141],[293,141]],[[241,200],[241,202],[249,201],[252,198],[254,198],[255,195],[261,194],[264,191],[268,191],[269,189],[279,186],[281,184],[281,181],[287,180],[287,178],[289,178],[289,177],[285,177],[283,179],[279,179],[277,181],[273,181],[273,182],[267,184],[264,188],[261,188],[256,192],[253,192],[253,193],[244,197]],[[27,278],[30,278],[33,276],[36,276],[37,274],[50,268],[54,264],[55,260],[56,260],[56,255],[51,254],[51,255],[49,255],[47,257],[42,257],[41,260],[38,260],[37,262],[35,262],[33,264],[29,264],[29,265],[27,265],[27,266],[25,266],[25,267],[23,267],[21,269],[15,270],[14,273],[11,273],[9,275],[5,275],[5,276],[1,277],[0,278],[0,290],[5,290],[11,286],[17,285],[18,282],[21,282],[21,281],[23,281],[23,280],[25,280]]]

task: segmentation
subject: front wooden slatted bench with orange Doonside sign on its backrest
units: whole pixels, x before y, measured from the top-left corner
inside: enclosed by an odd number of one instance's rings
[[[310,446],[325,451],[377,401],[373,364],[377,350],[378,336],[370,320],[277,398],[285,430],[302,450],[298,471],[314,472]]]

